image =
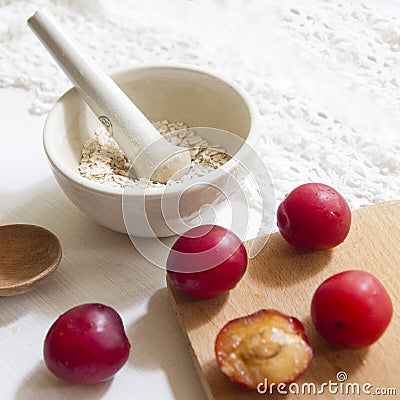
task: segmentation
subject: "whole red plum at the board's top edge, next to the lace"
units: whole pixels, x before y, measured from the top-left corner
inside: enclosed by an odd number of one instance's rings
[[[292,246],[327,250],[344,241],[350,230],[351,211],[332,187],[306,183],[290,192],[278,207],[278,228]]]

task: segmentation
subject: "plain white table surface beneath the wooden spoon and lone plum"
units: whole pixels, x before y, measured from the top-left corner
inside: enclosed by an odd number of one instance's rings
[[[141,257],[129,238],[90,221],[63,194],[42,148],[45,116],[29,114],[23,91],[0,91],[0,223],[54,232],[63,258],[31,293],[0,298],[0,399],[178,399],[204,393],[165,288],[165,271]],[[131,342],[127,364],[110,383],[64,383],[46,369],[43,340],[67,309],[101,302],[122,316]]]

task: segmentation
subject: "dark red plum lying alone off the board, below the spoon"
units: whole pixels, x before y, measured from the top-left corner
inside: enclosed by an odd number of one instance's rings
[[[78,384],[111,379],[128,359],[130,344],[119,314],[103,304],[82,304],[62,314],[43,348],[47,368]]]

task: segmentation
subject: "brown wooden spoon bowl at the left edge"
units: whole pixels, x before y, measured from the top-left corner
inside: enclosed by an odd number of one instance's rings
[[[37,225],[0,226],[0,296],[29,292],[61,261],[57,236]]]

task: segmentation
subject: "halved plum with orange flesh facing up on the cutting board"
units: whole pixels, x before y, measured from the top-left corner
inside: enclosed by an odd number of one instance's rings
[[[262,383],[296,381],[313,351],[301,322],[277,310],[260,310],[228,322],[218,333],[215,355],[233,382],[256,390]]]

